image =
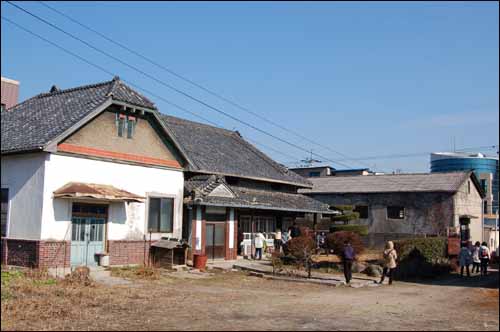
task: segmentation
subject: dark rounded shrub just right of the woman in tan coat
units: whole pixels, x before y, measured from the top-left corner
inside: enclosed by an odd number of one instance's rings
[[[447,258],[446,238],[415,238],[394,241],[399,264],[395,276],[406,278],[431,278],[448,273],[451,262]]]

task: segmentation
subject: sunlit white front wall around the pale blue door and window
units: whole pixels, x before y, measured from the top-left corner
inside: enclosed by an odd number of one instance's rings
[[[71,201],[52,197],[55,190],[68,182],[107,184],[141,196],[151,193],[172,196],[175,198],[174,232],[153,234],[152,239],[182,236],[182,171],[51,154],[45,162],[42,239],[71,239]],[[109,240],[143,239],[147,230],[146,202],[112,203],[108,220]]]

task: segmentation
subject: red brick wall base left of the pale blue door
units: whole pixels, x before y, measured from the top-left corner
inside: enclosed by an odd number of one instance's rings
[[[2,239],[2,264],[30,268],[69,267],[69,241]]]

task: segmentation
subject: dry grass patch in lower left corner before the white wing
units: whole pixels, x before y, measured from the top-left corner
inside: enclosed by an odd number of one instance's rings
[[[37,270],[2,272],[2,330],[99,330],[104,312],[126,311],[139,298],[78,273],[56,280]]]

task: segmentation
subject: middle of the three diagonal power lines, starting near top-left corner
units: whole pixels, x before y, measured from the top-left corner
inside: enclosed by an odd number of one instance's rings
[[[96,52],[99,52],[99,53],[101,53],[101,54],[103,54],[103,55],[105,55],[105,56],[107,56],[107,57],[109,57],[109,58],[111,58],[111,59],[113,59],[113,60],[115,60],[115,61],[117,61],[117,62],[121,63],[122,65],[124,65],[124,66],[126,66],[126,67],[128,67],[128,68],[130,68],[130,69],[132,69],[132,70],[134,70],[134,71],[136,71],[136,72],[138,72],[138,73],[140,73],[141,75],[143,75],[143,76],[145,76],[145,77],[147,77],[147,78],[149,78],[149,79],[151,79],[151,80],[153,80],[153,81],[155,81],[155,82],[157,82],[157,83],[159,83],[159,84],[161,84],[161,85],[163,85],[163,86],[165,86],[165,87],[167,87],[167,88],[169,88],[169,89],[171,89],[171,90],[173,90],[173,91],[175,91],[175,92],[177,92],[177,93],[179,93],[179,94],[181,94],[181,95],[183,95],[183,96],[185,96],[186,98],[189,98],[189,99],[191,99],[191,100],[193,100],[193,101],[195,101],[195,102],[197,102],[197,103],[199,103],[199,104],[201,104],[201,105],[203,105],[203,106],[205,106],[205,107],[207,107],[207,108],[209,108],[209,109],[211,109],[211,110],[213,110],[213,111],[215,111],[215,112],[218,112],[218,113],[220,113],[220,114],[223,114],[223,115],[225,115],[226,117],[229,117],[230,119],[232,119],[232,120],[234,120],[234,121],[237,121],[237,122],[239,122],[239,123],[241,123],[241,124],[243,124],[243,125],[245,125],[245,126],[247,126],[247,127],[249,127],[249,128],[252,128],[253,130],[256,130],[256,131],[258,131],[258,132],[260,132],[260,133],[262,133],[262,134],[264,134],[264,135],[267,135],[267,136],[269,136],[269,137],[271,137],[271,138],[274,138],[275,140],[278,140],[278,141],[280,141],[280,142],[282,142],[282,143],[285,143],[285,144],[287,144],[287,145],[290,145],[290,146],[292,146],[292,147],[294,147],[294,148],[296,148],[296,149],[298,149],[298,150],[301,150],[301,151],[304,151],[304,152],[307,152],[307,153],[310,153],[310,152],[311,152],[311,151],[309,151],[309,150],[307,150],[307,149],[305,149],[305,148],[303,148],[303,147],[301,147],[301,146],[299,146],[299,145],[297,145],[297,144],[295,144],[295,143],[291,143],[291,142],[287,141],[286,139],[283,139],[283,138],[281,138],[281,137],[278,137],[278,136],[276,136],[276,135],[274,135],[274,134],[271,134],[271,133],[269,133],[269,132],[267,132],[267,131],[265,131],[265,130],[262,130],[262,129],[260,129],[260,128],[258,128],[258,127],[256,127],[256,126],[254,126],[254,125],[252,125],[252,124],[250,124],[250,123],[246,122],[246,121],[243,121],[243,120],[241,120],[241,119],[238,119],[237,117],[235,117],[235,116],[233,116],[233,115],[231,115],[231,114],[229,114],[229,113],[227,113],[227,112],[225,112],[225,111],[223,111],[223,110],[221,110],[221,109],[219,109],[219,108],[217,108],[217,107],[215,107],[215,106],[212,106],[212,105],[210,105],[210,104],[208,104],[208,103],[206,103],[206,102],[204,102],[204,101],[202,101],[202,100],[200,100],[200,99],[198,99],[198,98],[196,98],[196,97],[194,97],[194,96],[192,96],[192,95],[190,95],[190,94],[188,94],[188,93],[186,93],[186,92],[184,92],[184,91],[182,91],[182,90],[180,90],[180,89],[177,89],[176,87],[174,87],[174,86],[172,86],[172,85],[170,85],[170,84],[168,84],[168,83],[166,83],[166,82],[164,82],[164,81],[162,81],[162,80],[160,80],[160,79],[157,79],[156,77],[154,77],[154,76],[152,76],[152,75],[150,75],[150,74],[148,74],[148,73],[144,72],[143,70],[141,70],[141,69],[139,69],[139,68],[137,68],[137,67],[135,67],[135,66],[133,66],[133,65],[131,65],[131,64],[129,64],[129,63],[127,63],[127,62],[125,62],[125,61],[123,61],[123,60],[121,60],[121,59],[117,58],[117,57],[115,57],[115,56],[114,56],[114,55],[112,55],[112,54],[109,54],[108,52],[105,52],[105,51],[103,51],[103,50],[99,49],[98,47],[95,47],[94,45],[92,45],[92,44],[88,43],[87,41],[85,41],[85,40],[83,40],[83,39],[81,39],[81,38],[79,38],[79,37],[77,37],[77,36],[75,36],[75,35],[73,35],[73,34],[71,34],[71,33],[67,32],[67,31],[65,31],[65,30],[64,30],[64,29],[62,29],[62,28],[59,28],[59,27],[58,27],[58,26],[56,26],[55,24],[50,23],[49,21],[47,21],[47,20],[45,20],[45,19],[43,19],[43,18],[39,17],[39,16],[38,16],[38,15],[36,15],[36,14],[31,13],[30,11],[28,11],[28,10],[24,9],[24,8],[23,8],[23,7],[21,7],[21,6],[18,6],[18,5],[16,5],[16,4],[12,3],[11,1],[6,1],[6,2],[7,2],[8,4],[10,4],[11,6],[14,6],[14,7],[18,8],[19,10],[21,10],[21,11],[25,12],[26,14],[28,14],[28,15],[30,15],[30,16],[32,16],[32,17],[34,17],[34,18],[36,18],[37,20],[39,20],[39,21],[41,21],[41,22],[43,22],[43,23],[45,23],[45,24],[47,24],[47,25],[51,26],[52,28],[54,28],[54,29],[56,29],[56,30],[58,30],[58,31],[60,31],[60,32],[62,32],[62,33],[64,33],[65,35],[67,35],[67,36],[69,36],[69,37],[71,37],[71,38],[73,38],[73,39],[75,39],[75,40],[77,40],[77,41],[79,41],[79,42],[83,43],[84,45],[86,45],[87,47],[89,47],[89,48],[91,48],[91,49],[95,50]],[[313,153],[313,154],[314,154],[314,155],[316,155],[316,156],[318,156],[318,157],[320,157],[320,158],[322,158],[322,159],[325,159],[325,160],[327,160],[327,161],[330,161],[330,162],[332,162],[332,163],[339,164],[339,165],[342,165],[342,166],[344,166],[344,167],[351,168],[351,166],[350,166],[350,165],[347,165],[347,164],[345,164],[345,163],[338,162],[338,161],[336,161],[336,160],[333,160],[333,159],[327,158],[327,157],[322,156],[322,155],[317,154],[317,153]]]

